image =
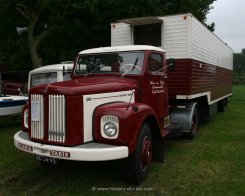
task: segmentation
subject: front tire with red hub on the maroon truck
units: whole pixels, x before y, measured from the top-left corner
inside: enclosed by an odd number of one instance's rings
[[[145,180],[148,167],[152,160],[151,129],[147,123],[141,128],[140,137],[135,152],[127,159],[127,180],[139,185]]]

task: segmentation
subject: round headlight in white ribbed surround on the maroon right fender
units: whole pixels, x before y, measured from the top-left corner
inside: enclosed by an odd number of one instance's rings
[[[116,139],[119,135],[119,119],[117,116],[104,115],[101,118],[101,135],[107,139]]]

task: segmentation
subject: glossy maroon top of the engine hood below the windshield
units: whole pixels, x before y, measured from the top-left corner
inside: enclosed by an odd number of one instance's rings
[[[30,89],[30,94],[87,95],[137,89],[136,80],[121,77],[90,77],[41,85]]]

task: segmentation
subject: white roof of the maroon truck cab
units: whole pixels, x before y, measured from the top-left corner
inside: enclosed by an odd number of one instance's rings
[[[155,46],[127,45],[127,46],[113,46],[113,47],[92,48],[92,49],[83,50],[79,54],[124,52],[124,51],[140,51],[140,50],[153,50],[153,51],[165,52],[163,49],[155,47]]]

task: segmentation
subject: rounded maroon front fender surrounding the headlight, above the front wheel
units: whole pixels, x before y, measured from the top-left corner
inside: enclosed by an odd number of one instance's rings
[[[102,136],[101,118],[104,115],[117,116],[119,119],[119,134],[115,139]],[[156,117],[148,105],[142,103],[116,102],[99,106],[94,111],[94,141],[113,145],[127,145],[129,153],[134,152],[141,127],[149,116]]]

